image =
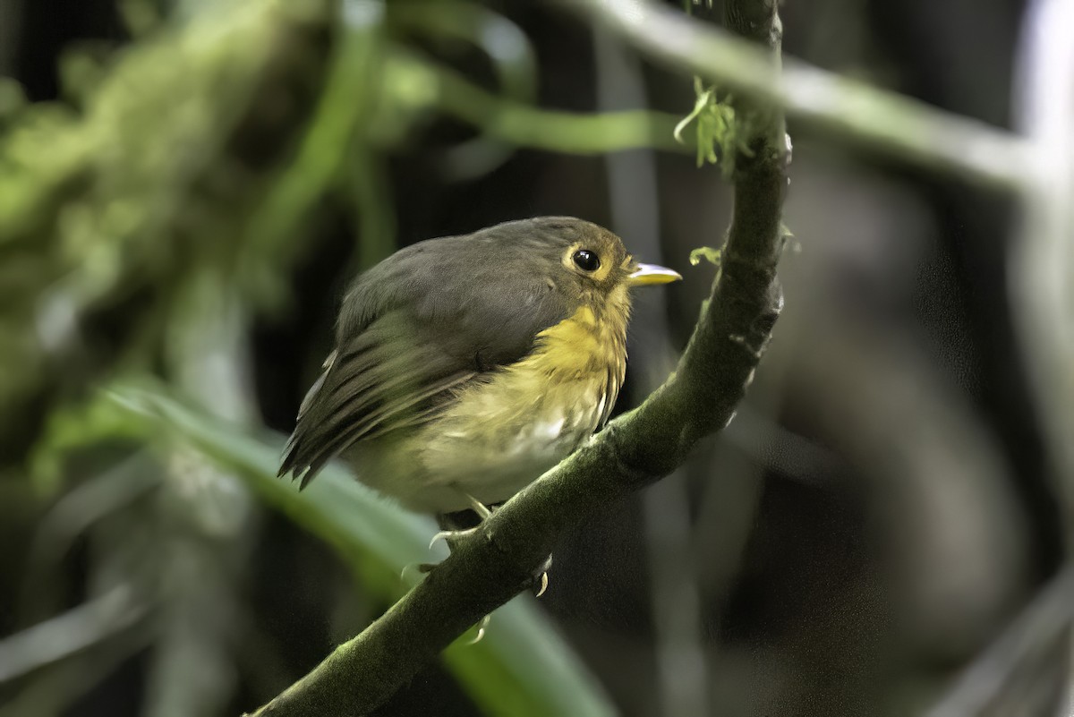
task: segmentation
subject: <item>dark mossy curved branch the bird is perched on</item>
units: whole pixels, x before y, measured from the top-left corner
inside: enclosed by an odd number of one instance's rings
[[[726,5],[728,17],[749,18],[751,36],[770,50],[766,72],[775,74],[775,0]],[[255,717],[343,717],[376,708],[481,617],[525,589],[566,528],[667,475],[699,439],[731,420],[782,307],[775,267],[788,161],[782,115],[744,103],[736,109],[752,153],[737,159],[721,273],[678,370],[639,408],[504,504],[423,583]]]

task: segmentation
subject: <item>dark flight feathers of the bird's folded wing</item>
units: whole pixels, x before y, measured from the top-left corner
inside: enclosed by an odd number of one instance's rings
[[[301,477],[305,487],[354,442],[432,420],[476,375],[404,312],[376,319],[329,356],[302,403],[279,474]]]

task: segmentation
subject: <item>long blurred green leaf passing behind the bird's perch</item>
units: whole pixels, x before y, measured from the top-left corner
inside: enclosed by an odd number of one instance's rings
[[[338,466],[329,466],[302,493],[277,479],[284,445],[278,435],[255,437],[151,387],[120,386],[110,396],[132,416],[155,423],[165,435],[234,470],[265,503],[331,544],[386,598],[404,590],[398,575],[405,566],[434,557],[427,548],[437,529],[431,520],[380,498]],[[528,596],[497,610],[481,642],[456,642],[444,653],[444,661],[488,715],[615,714],[585,665]]]

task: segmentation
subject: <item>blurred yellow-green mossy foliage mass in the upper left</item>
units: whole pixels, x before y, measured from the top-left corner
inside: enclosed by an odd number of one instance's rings
[[[4,455],[32,440],[35,407],[62,404],[96,376],[153,368],[194,276],[215,272],[229,291],[258,297],[257,277],[286,270],[286,255],[245,251],[234,237],[272,182],[265,170],[287,159],[308,119],[328,61],[318,38],[329,29],[301,6],[208,13],[117,53],[79,106],[30,105],[10,120],[0,136]],[[91,342],[95,317],[108,320],[110,346]]]

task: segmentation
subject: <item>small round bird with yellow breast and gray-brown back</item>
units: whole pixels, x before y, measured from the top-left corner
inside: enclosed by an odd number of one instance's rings
[[[279,474],[339,455],[408,509],[483,517],[604,425],[630,289],[681,278],[572,217],[401,249],[347,291]]]

